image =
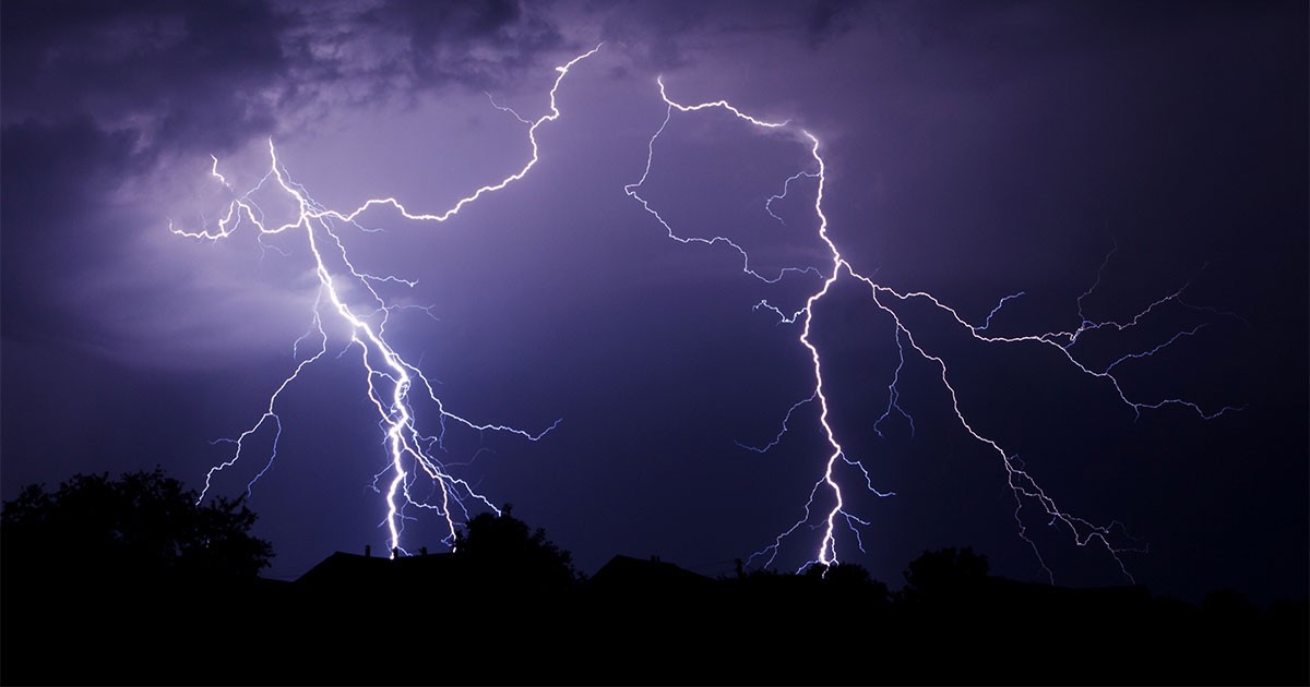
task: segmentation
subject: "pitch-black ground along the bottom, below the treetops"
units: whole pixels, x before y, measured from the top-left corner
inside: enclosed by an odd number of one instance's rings
[[[335,569],[329,563],[337,561]],[[448,561],[431,556],[431,561]],[[614,565],[617,564],[617,568]],[[325,568],[326,567],[326,568]],[[587,581],[335,555],[297,582],[4,581],[5,684],[1306,684],[1306,603],[986,576]],[[441,569],[438,573],[438,569]],[[844,571],[850,572],[853,571]]]

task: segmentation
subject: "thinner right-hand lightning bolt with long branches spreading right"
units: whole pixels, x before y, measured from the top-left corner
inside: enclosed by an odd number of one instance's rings
[[[1089,544],[1096,544],[1103,547],[1119,565],[1119,569],[1123,572],[1123,574],[1128,580],[1132,580],[1132,574],[1128,572],[1128,568],[1124,564],[1124,560],[1121,559],[1121,554],[1127,551],[1141,551],[1142,550],[1141,544],[1137,543],[1134,539],[1127,537],[1127,534],[1124,534],[1123,537],[1117,537],[1115,533],[1123,530],[1123,526],[1119,522],[1111,522],[1108,525],[1098,525],[1077,514],[1066,512],[1064,508],[1060,506],[1060,504],[1053,497],[1051,497],[1043,489],[1043,487],[1038,483],[1036,478],[1023,467],[1022,462],[1018,461],[1018,457],[1013,455],[1010,451],[1002,448],[1002,445],[996,438],[992,438],[981,433],[979,429],[976,429],[960,406],[959,395],[956,394],[955,385],[951,381],[950,365],[946,357],[938,352],[931,351],[930,347],[920,342],[920,336],[917,336],[916,332],[907,325],[907,322],[899,313],[897,306],[910,301],[926,302],[937,311],[948,315],[951,321],[954,321],[964,332],[967,332],[975,340],[985,344],[1047,345],[1055,348],[1056,351],[1060,352],[1060,355],[1065,360],[1068,360],[1069,364],[1072,364],[1081,373],[1093,377],[1100,382],[1108,383],[1115,390],[1119,399],[1124,404],[1131,407],[1134,414],[1140,415],[1144,410],[1155,410],[1155,408],[1162,408],[1165,406],[1182,406],[1196,412],[1201,417],[1213,419],[1225,412],[1239,408],[1225,406],[1217,410],[1207,411],[1201,408],[1201,406],[1182,398],[1166,398],[1159,400],[1134,399],[1128,394],[1120,379],[1115,376],[1115,368],[1119,364],[1127,360],[1149,357],[1151,355],[1155,355],[1157,352],[1171,345],[1179,339],[1195,335],[1200,327],[1175,334],[1170,339],[1165,340],[1163,343],[1150,349],[1125,355],[1119,360],[1115,360],[1110,365],[1099,369],[1079,360],[1074,348],[1079,338],[1089,331],[1128,330],[1131,327],[1137,326],[1144,318],[1151,314],[1153,310],[1170,302],[1197,311],[1205,310],[1199,306],[1188,305],[1182,300],[1183,292],[1186,291],[1187,287],[1184,285],[1179,291],[1150,304],[1146,309],[1144,309],[1141,313],[1138,313],[1128,322],[1094,321],[1085,314],[1083,300],[1087,296],[1090,296],[1099,285],[1104,267],[1115,253],[1115,250],[1111,250],[1110,254],[1106,255],[1106,260],[1102,263],[1100,270],[1096,273],[1096,280],[1077,300],[1079,325],[1076,328],[1048,331],[1048,332],[1031,334],[1023,336],[993,336],[988,334],[988,328],[992,325],[993,317],[996,317],[997,313],[1001,311],[1001,309],[1005,306],[1007,301],[1022,297],[1023,296],[1022,292],[1001,298],[1001,301],[997,302],[997,305],[988,314],[982,325],[972,325],[963,317],[960,317],[960,314],[955,309],[943,304],[930,293],[926,292],[903,293],[884,284],[879,284],[871,277],[871,275],[863,275],[855,271],[852,263],[846,260],[846,258],[841,254],[841,251],[838,250],[837,245],[833,242],[828,232],[828,216],[824,213],[824,192],[827,190],[827,164],[820,152],[821,145],[819,139],[814,136],[810,131],[795,127],[790,122],[768,122],[764,119],[758,119],[753,115],[744,113],[743,110],[738,109],[736,106],[731,105],[724,99],[701,102],[696,105],[684,105],[672,99],[668,96],[668,90],[664,85],[663,77],[656,79],[656,84],[659,85],[660,98],[663,99],[665,106],[664,120],[659,126],[659,128],[651,135],[647,143],[646,147],[647,158],[646,158],[645,171],[642,173],[641,178],[637,182],[625,186],[624,191],[635,202],[641,203],[641,205],[646,209],[646,212],[648,212],[651,217],[654,217],[654,220],[660,226],[663,226],[668,238],[685,245],[692,245],[692,243],[698,243],[705,246],[723,245],[731,247],[740,255],[743,272],[755,279],[773,284],[782,280],[783,277],[795,276],[796,273],[812,272],[821,276],[819,287],[808,294],[808,297],[804,301],[804,306],[796,311],[786,313],[785,310],[769,304],[766,300],[760,301],[756,305],[757,310],[765,310],[773,313],[778,318],[779,323],[799,326],[800,331],[796,340],[807,353],[810,366],[814,373],[812,377],[814,386],[812,386],[812,393],[810,394],[808,398],[795,403],[787,410],[783,417],[782,431],[769,444],[760,448],[749,446],[741,442],[738,444],[753,451],[758,453],[768,451],[769,449],[774,448],[782,440],[783,434],[789,431],[789,423],[793,420],[793,414],[795,414],[795,411],[802,406],[815,403],[817,404],[819,410],[819,417],[817,417],[819,427],[823,431],[823,434],[827,441],[827,455],[823,458],[820,463],[821,470],[817,479],[812,483],[812,485],[808,489],[808,499],[804,501],[804,505],[800,509],[799,518],[795,522],[793,522],[790,527],[785,529],[781,534],[778,534],[777,538],[774,538],[773,543],[770,543],[769,546],[764,547],[760,551],[756,551],[747,563],[751,564],[751,561],[760,559],[762,560],[762,565],[765,568],[770,567],[777,559],[783,542],[791,535],[794,535],[803,526],[810,523],[812,523],[815,529],[821,530],[823,535],[819,540],[817,548],[814,552],[814,557],[807,563],[804,563],[800,567],[802,569],[812,564],[820,564],[828,567],[840,561],[837,534],[841,527],[850,529],[854,533],[855,543],[859,547],[859,550],[863,551],[863,540],[859,535],[859,527],[867,526],[869,521],[853,514],[848,509],[846,506],[848,499],[842,488],[842,479],[845,479],[846,474],[852,472],[852,470],[854,471],[855,476],[858,476],[862,480],[862,487],[865,489],[880,497],[895,496],[895,492],[882,491],[874,487],[874,480],[867,467],[863,465],[862,459],[853,458],[852,455],[848,454],[848,451],[841,444],[840,437],[837,436],[837,432],[829,423],[831,399],[825,393],[824,359],[821,351],[819,349],[819,345],[812,339],[815,309],[832,292],[833,285],[837,284],[838,280],[850,279],[855,280],[858,284],[863,284],[867,288],[867,293],[872,300],[872,302],[876,305],[876,308],[891,319],[895,327],[893,328],[895,343],[899,351],[899,362],[896,365],[892,382],[887,387],[888,391],[887,410],[874,423],[875,432],[878,432],[878,434],[882,436],[879,425],[888,417],[891,417],[893,414],[903,416],[909,423],[910,431],[913,432],[914,428],[913,417],[905,410],[903,410],[899,403],[900,373],[905,364],[905,355],[908,348],[910,352],[913,352],[913,355],[917,355],[921,359],[931,362],[939,370],[941,383],[943,389],[947,391],[947,396],[950,399],[950,406],[955,420],[975,441],[977,441],[979,444],[981,444],[988,450],[996,454],[1001,467],[1005,471],[1006,483],[1009,484],[1010,491],[1014,496],[1014,502],[1015,502],[1014,520],[1015,523],[1018,525],[1018,534],[1032,548],[1032,552],[1036,556],[1039,565],[1045,572],[1048,580],[1053,581],[1055,576],[1051,572],[1049,567],[1047,567],[1045,560],[1043,560],[1041,551],[1039,551],[1036,542],[1034,542],[1027,534],[1024,521],[1020,517],[1020,513],[1023,512],[1024,508],[1038,508],[1041,510],[1041,513],[1045,514],[1045,518],[1048,520],[1049,523],[1053,525],[1058,523],[1064,526],[1064,529],[1069,531],[1077,546],[1083,547]],[[773,203],[781,200],[782,198],[786,198],[793,182],[800,178],[815,179],[817,182],[817,190],[815,192],[815,199],[814,199],[814,216],[817,219],[817,224],[814,228],[814,232],[815,236],[821,241],[821,243],[827,249],[828,259],[827,259],[827,266],[824,268],[820,270],[808,266],[785,267],[777,275],[762,275],[755,268],[752,268],[749,253],[732,238],[727,236],[710,236],[710,237],[683,236],[679,232],[676,232],[673,226],[669,225],[669,222],[660,215],[660,212],[656,208],[651,205],[651,203],[646,198],[641,195],[642,187],[647,183],[647,179],[650,178],[651,169],[655,162],[655,150],[658,141],[660,136],[664,135],[675,114],[689,116],[711,111],[726,113],[727,115],[740,122],[745,127],[753,127],[757,130],[762,130],[765,132],[770,131],[783,132],[798,140],[802,145],[804,145],[808,149],[808,156],[811,158],[810,169],[803,169],[800,171],[796,171],[786,181],[783,181],[782,192],[769,196],[768,200],[765,200],[764,209],[776,220],[782,221],[782,219],[773,212],[772,208]],[[823,500],[825,501],[829,501],[831,505],[820,506],[820,497],[823,497]],[[1128,543],[1121,542],[1121,539],[1128,539]]]

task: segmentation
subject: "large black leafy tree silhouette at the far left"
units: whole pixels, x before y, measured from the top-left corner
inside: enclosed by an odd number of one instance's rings
[[[162,468],[75,475],[58,489],[29,485],[0,512],[7,574],[105,581],[255,577],[272,547],[250,535],[242,500],[196,505]]]

